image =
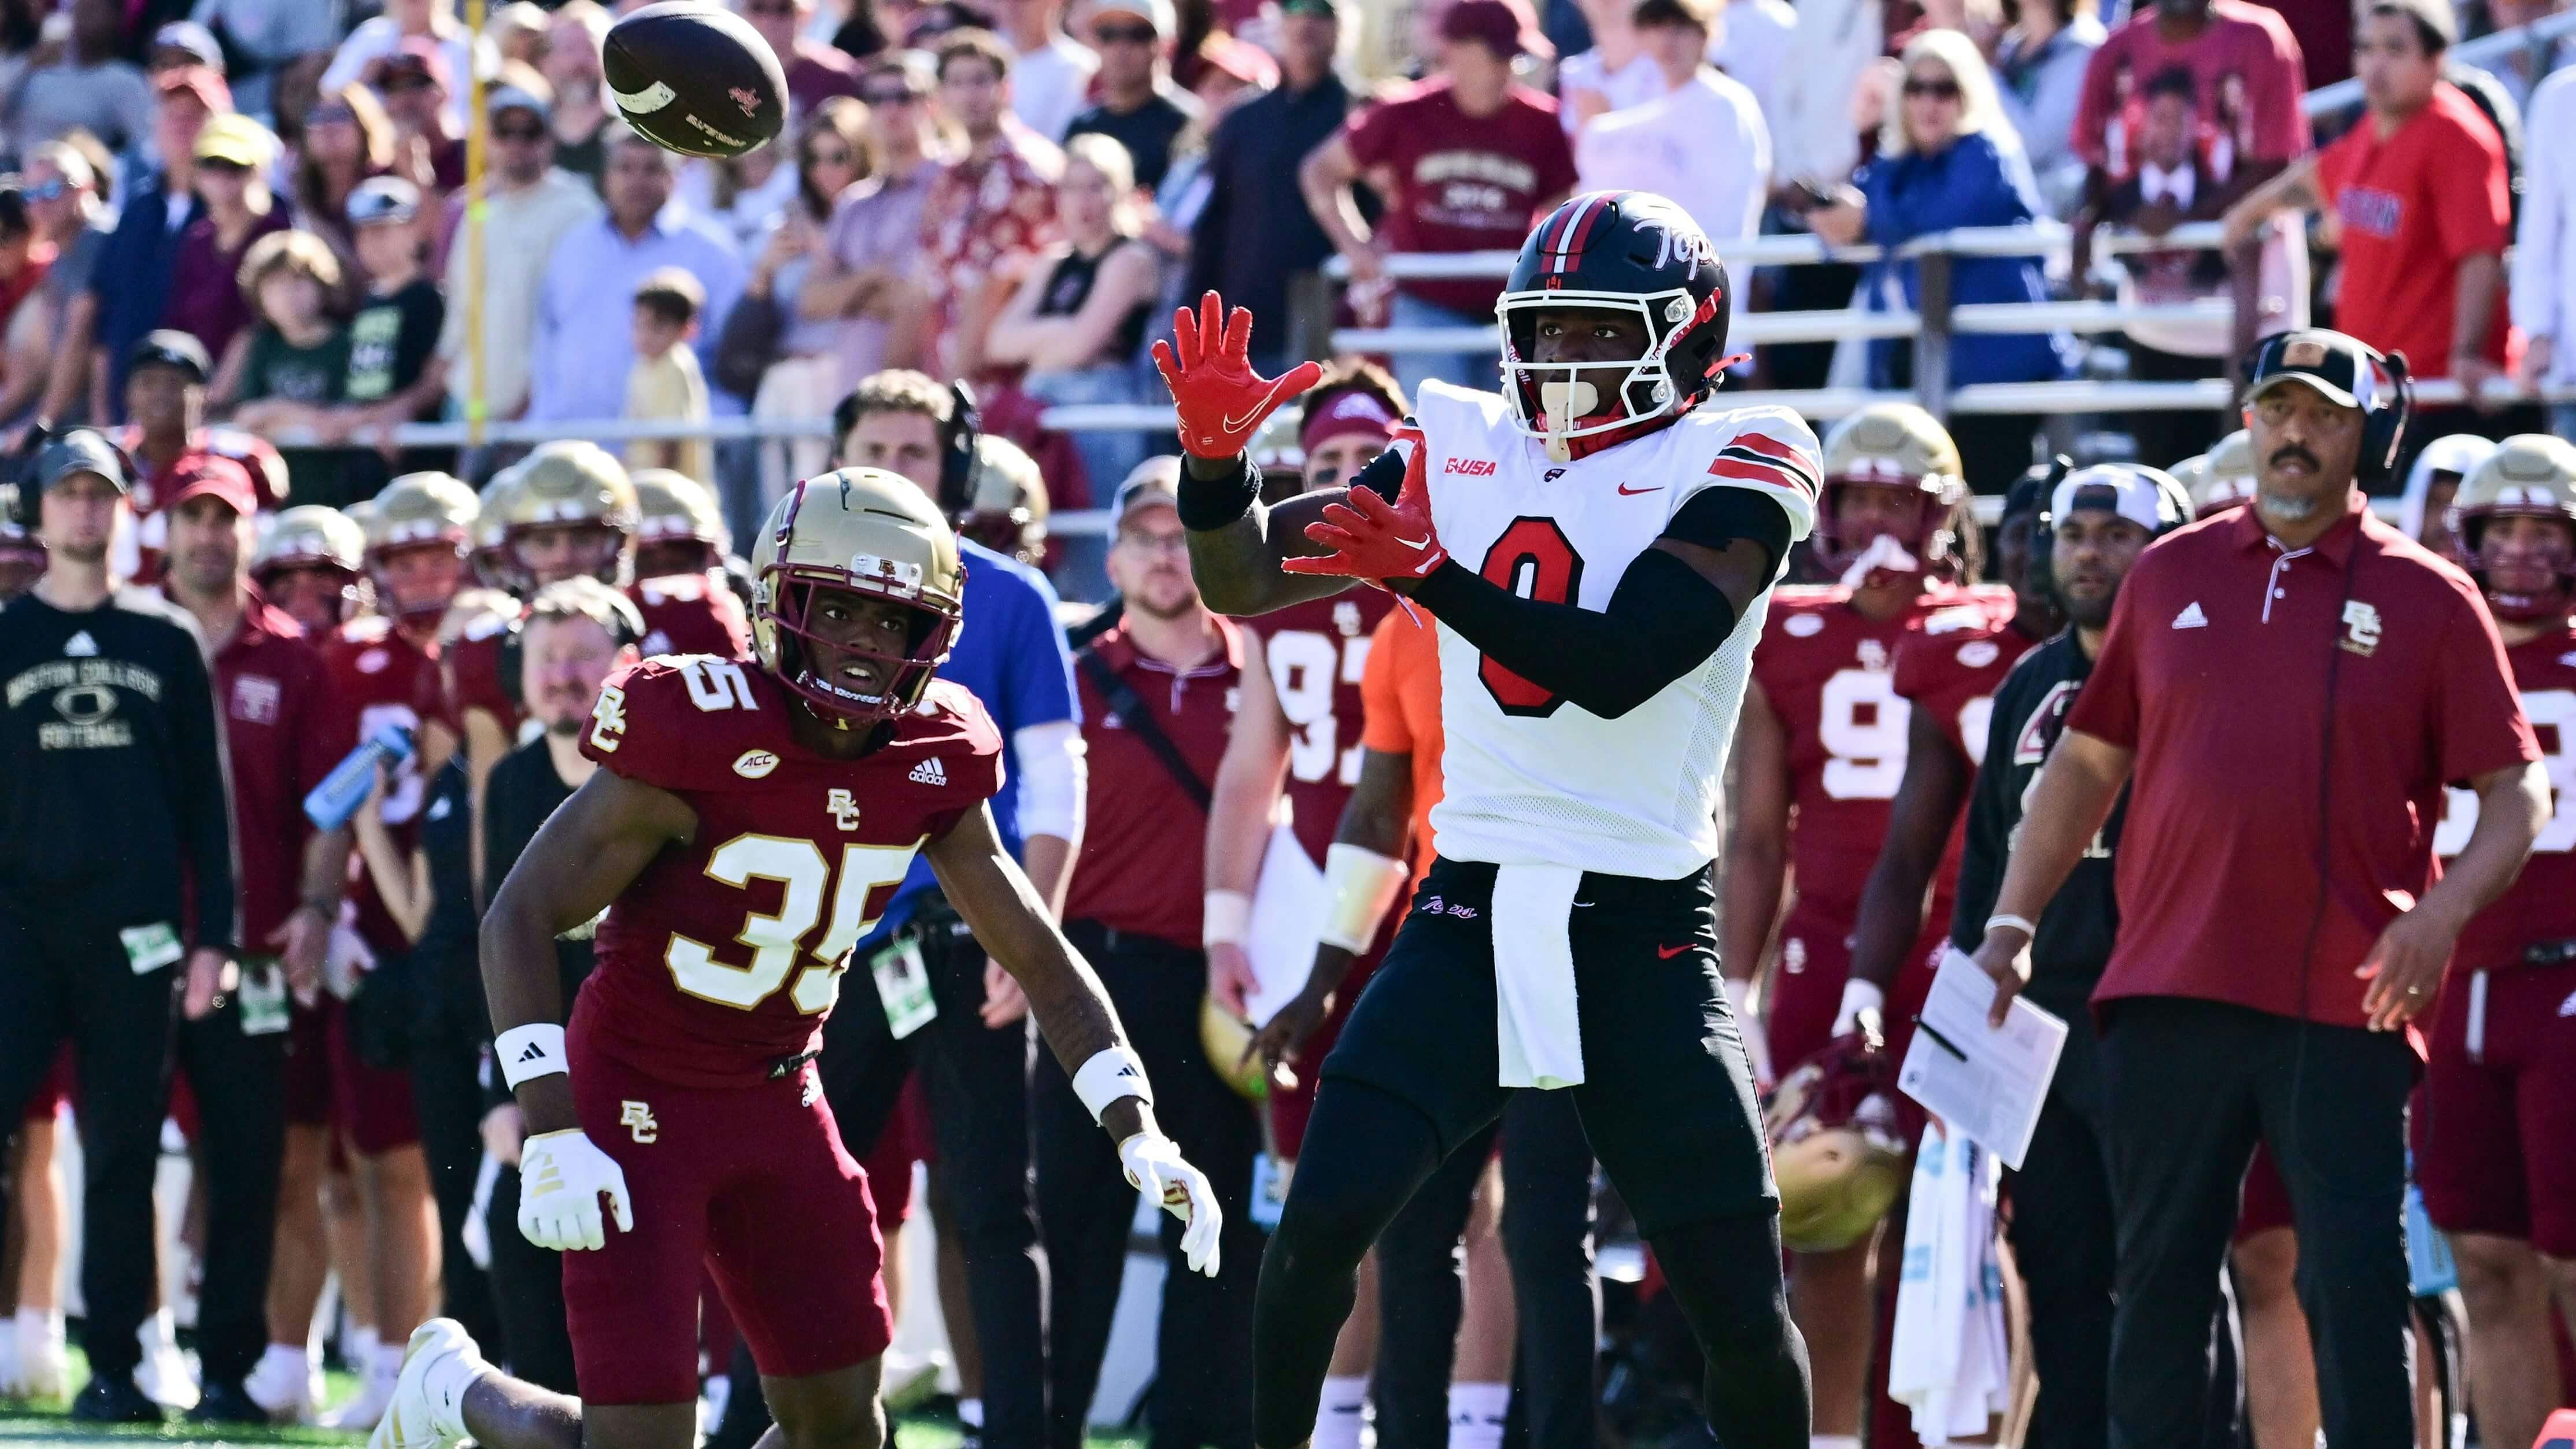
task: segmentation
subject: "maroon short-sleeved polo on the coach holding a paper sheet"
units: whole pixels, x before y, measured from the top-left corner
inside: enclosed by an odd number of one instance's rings
[[[2066,726],[2136,752],[2094,1001],[2336,1027],[2367,1024],[2352,968],[2434,880],[2442,785],[2540,759],[2478,587],[2367,510],[2295,551],[2251,507],[2159,540]]]

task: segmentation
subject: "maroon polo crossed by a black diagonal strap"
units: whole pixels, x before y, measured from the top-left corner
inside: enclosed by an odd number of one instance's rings
[[[1216,631],[1226,646],[1198,669],[1175,669],[1139,654],[1123,623],[1090,646],[1128,690],[1136,690],[1136,703],[1190,762],[1198,782],[1211,788],[1216,762],[1226,754],[1226,734],[1234,728],[1236,682],[1244,672],[1234,623],[1218,618]],[[1090,785],[1082,854],[1074,857],[1064,919],[1198,950],[1208,811],[1100,697],[1087,667],[1074,669],[1074,679],[1082,687]]]

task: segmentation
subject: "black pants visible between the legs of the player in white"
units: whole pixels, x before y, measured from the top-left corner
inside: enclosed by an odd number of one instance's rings
[[[1520,1091],[1378,1235],[1378,1449],[1443,1449],[1458,1349],[1458,1235],[1502,1138],[1502,1251],[1520,1315],[1520,1405],[1530,1449],[1592,1444],[1592,1143],[1571,1091]]]

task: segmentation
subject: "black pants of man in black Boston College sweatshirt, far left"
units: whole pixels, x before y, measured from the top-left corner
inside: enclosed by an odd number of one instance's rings
[[[134,973],[116,916],[85,901],[0,901],[0,1158],[72,1042],[80,1089],[80,1297],[90,1372],[126,1377],[152,1305],[152,1171],[170,1084],[178,965]],[[0,1210],[8,1189],[0,1184]]]

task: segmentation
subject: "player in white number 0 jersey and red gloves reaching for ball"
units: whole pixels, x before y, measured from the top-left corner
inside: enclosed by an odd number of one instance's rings
[[[1365,579],[1440,625],[1440,857],[1321,1063],[1262,1259],[1255,1444],[1314,1434],[1360,1256],[1535,1086],[1574,1091],[1654,1246],[1705,1349],[1716,1439],[1803,1449],[1806,1349],[1708,865],[1752,646],[1814,522],[1816,438],[1785,409],[1716,404],[1726,273],[1662,196],[1556,206],[1497,319],[1499,396],[1425,383],[1347,489],[1275,507],[1244,443],[1316,371],[1255,376],[1252,317],[1213,293],[1157,345],[1211,607],[1270,613]],[[1334,901],[1347,939],[1376,929],[1401,870],[1368,883]]]

